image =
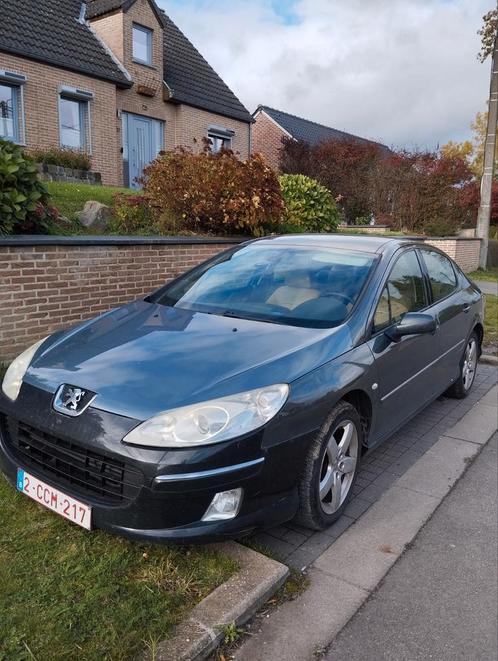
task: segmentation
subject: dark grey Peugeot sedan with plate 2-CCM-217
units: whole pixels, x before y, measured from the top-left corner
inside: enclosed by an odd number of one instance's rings
[[[88,529],[194,542],[331,525],[362,457],[472,387],[479,289],[435,248],[272,237],[20,355],[0,465]]]

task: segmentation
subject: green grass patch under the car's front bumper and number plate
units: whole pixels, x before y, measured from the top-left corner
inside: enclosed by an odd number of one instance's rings
[[[237,570],[209,547],[87,531],[0,477],[0,659],[136,658]]]

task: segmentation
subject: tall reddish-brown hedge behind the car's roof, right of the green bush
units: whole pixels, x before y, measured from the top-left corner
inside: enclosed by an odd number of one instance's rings
[[[285,140],[281,168],[326,186],[349,223],[373,215],[395,230],[433,235],[475,224],[477,183],[455,156],[396,152],[354,139],[314,146]]]

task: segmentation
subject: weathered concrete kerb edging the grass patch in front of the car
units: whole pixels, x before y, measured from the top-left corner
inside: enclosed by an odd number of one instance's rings
[[[216,544],[240,570],[213,590],[143,661],[201,661],[222,642],[223,628],[247,622],[289,576],[286,565],[236,542]]]

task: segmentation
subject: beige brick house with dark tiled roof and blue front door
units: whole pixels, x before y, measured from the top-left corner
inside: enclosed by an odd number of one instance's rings
[[[154,0],[9,0],[0,16],[0,137],[86,151],[136,186],[159,151],[250,152],[250,113]]]

